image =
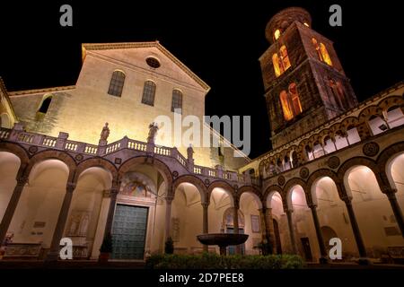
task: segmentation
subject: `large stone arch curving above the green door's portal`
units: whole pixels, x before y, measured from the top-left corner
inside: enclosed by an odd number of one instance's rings
[[[160,174],[162,175],[162,178],[167,184],[167,187],[172,187],[172,175],[171,175],[171,170],[169,167],[162,161],[157,160],[155,158],[150,158],[146,156],[137,156],[134,158],[131,158],[125,162],[122,163],[118,170],[118,177],[122,178],[122,176],[127,173],[131,168],[133,168],[136,165],[139,164],[148,164],[154,167],[154,169],[158,170]],[[169,194],[172,194],[173,196],[173,191],[169,190]]]

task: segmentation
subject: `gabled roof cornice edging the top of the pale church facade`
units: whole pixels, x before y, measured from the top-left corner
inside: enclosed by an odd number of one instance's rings
[[[184,65],[177,57],[171,54],[169,50],[164,48],[158,40],[150,42],[119,42],[119,43],[83,43],[82,44],[82,57],[85,57],[86,50],[109,50],[119,48],[158,48],[162,54],[169,57],[172,62],[180,66],[186,74],[188,74],[194,81],[196,81],[206,93],[210,91],[210,87],[205,83],[197,74],[193,73],[188,66]]]

